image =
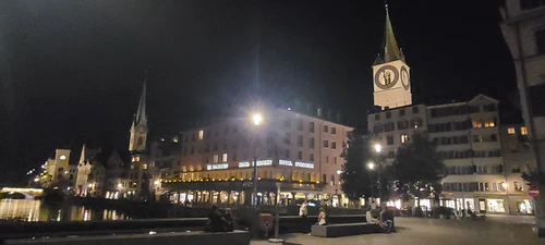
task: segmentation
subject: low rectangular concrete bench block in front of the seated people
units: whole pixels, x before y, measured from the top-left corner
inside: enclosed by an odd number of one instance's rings
[[[312,225],[311,234],[322,237],[338,237],[347,235],[360,235],[380,232],[376,223],[339,223],[328,225]]]

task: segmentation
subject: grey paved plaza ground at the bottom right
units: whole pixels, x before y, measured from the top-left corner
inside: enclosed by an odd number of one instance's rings
[[[491,217],[487,221],[437,220],[419,218],[396,218],[397,232],[391,234],[366,234],[337,238],[323,238],[306,234],[284,234],[286,245],[545,245],[545,238],[537,238],[531,217]],[[252,245],[270,244],[253,241]]]

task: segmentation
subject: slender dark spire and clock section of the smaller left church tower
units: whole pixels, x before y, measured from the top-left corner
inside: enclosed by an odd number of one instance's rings
[[[146,82],[142,88],[138,109],[131,125],[131,139],[129,140],[130,151],[144,151],[147,139],[147,115],[146,115]]]

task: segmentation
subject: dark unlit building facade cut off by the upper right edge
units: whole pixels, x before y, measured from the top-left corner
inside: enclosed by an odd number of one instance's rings
[[[545,2],[507,0],[501,30],[514,61],[522,117],[545,172]],[[541,224],[545,228],[545,222]]]

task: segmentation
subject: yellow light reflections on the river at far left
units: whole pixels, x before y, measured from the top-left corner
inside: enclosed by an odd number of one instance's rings
[[[117,210],[84,206],[48,205],[41,200],[1,199],[0,220],[89,221],[130,219]]]

